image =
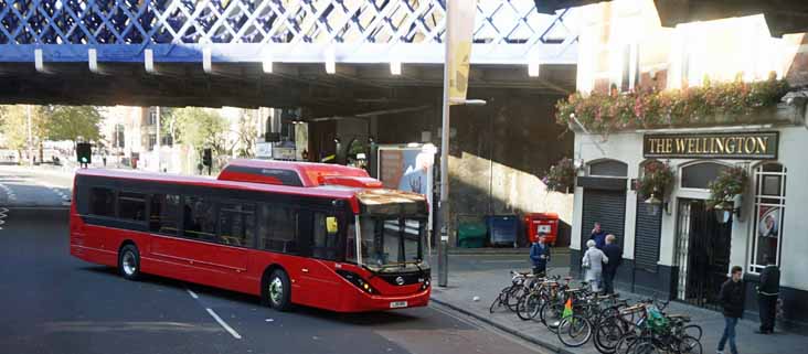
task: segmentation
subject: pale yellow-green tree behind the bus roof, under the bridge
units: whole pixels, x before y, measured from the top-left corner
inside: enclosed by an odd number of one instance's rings
[[[171,111],[169,125],[171,124],[176,141],[196,150],[212,148],[217,154],[225,151],[227,122],[217,112],[198,107],[179,108]]]

